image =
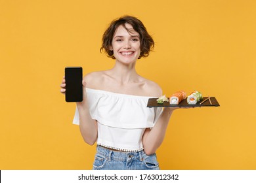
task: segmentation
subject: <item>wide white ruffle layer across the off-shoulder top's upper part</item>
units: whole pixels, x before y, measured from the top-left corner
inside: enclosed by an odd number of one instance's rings
[[[126,129],[154,127],[162,108],[146,107],[149,98],[87,88],[91,117],[100,124],[110,127]],[[79,125],[77,108],[73,124]]]

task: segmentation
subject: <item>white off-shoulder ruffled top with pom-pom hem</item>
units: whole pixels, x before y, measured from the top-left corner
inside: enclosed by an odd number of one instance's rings
[[[127,152],[142,150],[142,135],[146,128],[154,127],[162,108],[146,107],[151,97],[86,91],[91,117],[98,122],[97,144]],[[77,108],[73,124],[79,125]]]

